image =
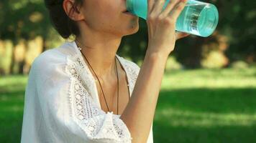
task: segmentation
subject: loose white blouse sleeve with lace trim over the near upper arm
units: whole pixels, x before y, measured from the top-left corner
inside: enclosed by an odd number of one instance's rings
[[[65,60],[64,60],[65,59]],[[60,142],[131,142],[129,130],[113,112],[104,112],[93,102],[81,80],[81,69],[68,58],[38,58],[37,96],[46,127]]]

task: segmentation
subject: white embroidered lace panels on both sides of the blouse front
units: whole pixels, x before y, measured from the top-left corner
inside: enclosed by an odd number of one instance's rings
[[[130,91],[136,82],[139,67],[131,61],[126,61],[119,56],[127,69]],[[131,142],[131,135],[127,126],[113,112],[105,113],[93,102],[94,79],[89,73],[88,66],[82,57],[68,56],[65,71],[70,76],[69,100],[71,116],[89,139],[98,139],[102,142]],[[132,68],[132,66],[137,66]]]

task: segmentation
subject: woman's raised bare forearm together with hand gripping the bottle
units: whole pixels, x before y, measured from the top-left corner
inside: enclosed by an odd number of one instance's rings
[[[175,47],[175,23],[186,0],[147,0],[148,47],[137,77],[132,98],[120,117],[132,135],[133,143],[147,142],[168,55]]]

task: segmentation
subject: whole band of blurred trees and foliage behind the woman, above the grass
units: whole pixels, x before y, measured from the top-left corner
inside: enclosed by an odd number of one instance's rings
[[[252,0],[208,0],[219,9],[219,25],[213,35],[189,36],[177,41],[169,69],[252,66],[256,61],[256,10]],[[0,74],[28,74],[42,51],[64,39],[52,28],[42,0],[0,1]],[[147,24],[140,19],[137,34],[124,36],[118,54],[142,64],[147,48]],[[170,60],[170,61],[169,61]]]

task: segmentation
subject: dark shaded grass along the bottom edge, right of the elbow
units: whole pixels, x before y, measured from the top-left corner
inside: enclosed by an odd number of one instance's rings
[[[154,122],[154,143],[253,143],[256,126],[172,127]]]

